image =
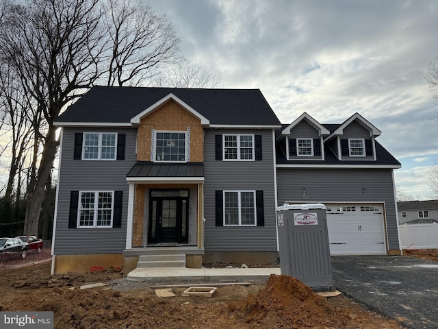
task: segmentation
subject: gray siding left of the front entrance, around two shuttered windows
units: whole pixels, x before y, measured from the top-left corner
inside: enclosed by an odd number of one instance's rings
[[[73,160],[75,133],[126,134],[125,160]],[[126,174],[136,162],[136,129],[65,128],[62,136],[54,254],[120,254],[125,249],[128,187]],[[123,191],[121,228],[68,228],[71,191]]]

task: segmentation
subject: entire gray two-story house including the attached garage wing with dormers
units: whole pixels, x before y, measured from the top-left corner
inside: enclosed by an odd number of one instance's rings
[[[359,114],[281,125],[260,90],[96,86],[55,125],[53,273],[127,273],[163,248],[188,267],[269,262],[285,202],[328,205],[333,254],[400,253],[400,163]]]

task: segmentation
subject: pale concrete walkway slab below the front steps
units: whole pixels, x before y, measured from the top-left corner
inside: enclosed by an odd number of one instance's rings
[[[280,268],[188,269],[187,267],[137,268],[129,272],[128,280],[160,281],[246,281],[267,280],[271,274],[280,275]]]

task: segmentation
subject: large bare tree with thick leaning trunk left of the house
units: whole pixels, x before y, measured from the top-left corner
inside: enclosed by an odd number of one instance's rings
[[[27,193],[25,234],[38,234],[44,188],[57,154],[53,120],[62,108],[98,77],[97,0],[32,0],[11,5],[0,36],[0,56],[23,82],[47,123],[33,188]]]

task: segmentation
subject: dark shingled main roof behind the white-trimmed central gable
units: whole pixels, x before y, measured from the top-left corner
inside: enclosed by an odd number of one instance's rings
[[[214,125],[280,125],[259,89],[94,86],[60,114],[58,123],[129,123],[172,93]]]

